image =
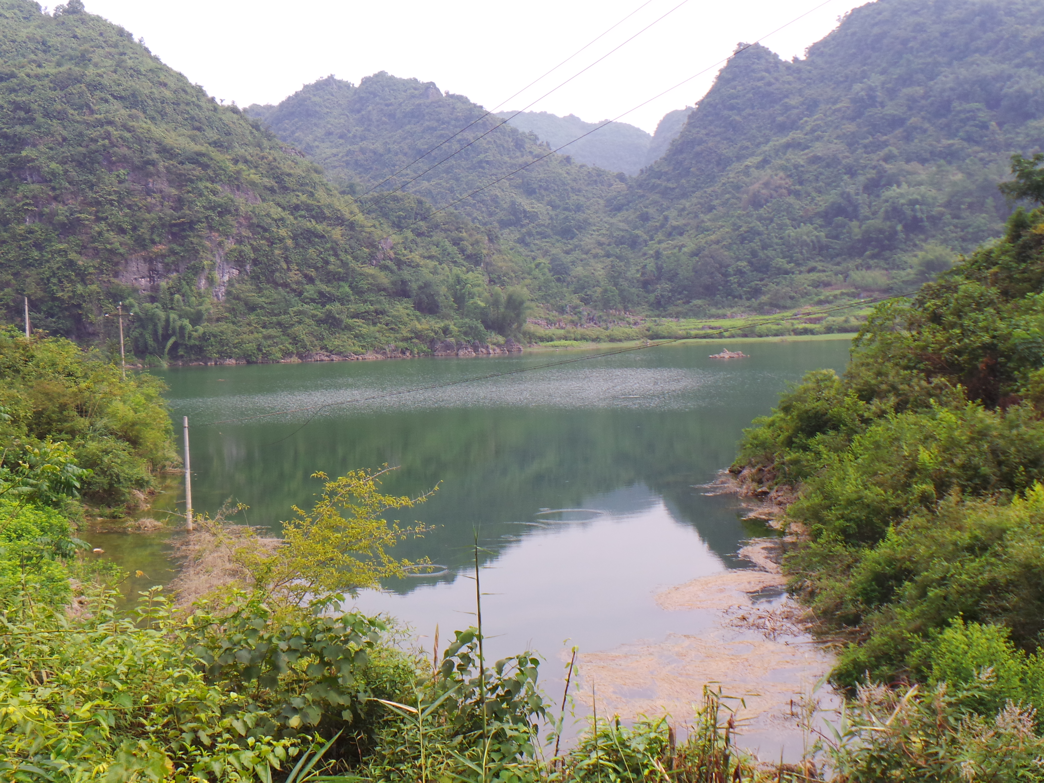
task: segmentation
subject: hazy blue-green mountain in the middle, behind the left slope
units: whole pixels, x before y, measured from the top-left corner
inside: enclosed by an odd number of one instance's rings
[[[587,268],[612,241],[604,201],[625,191],[624,174],[548,155],[536,137],[434,84],[384,72],[358,86],[330,76],[277,106],[245,111],[323,166],[364,213],[381,212],[382,191],[452,205],[495,229],[523,265],[550,264],[560,277]]]

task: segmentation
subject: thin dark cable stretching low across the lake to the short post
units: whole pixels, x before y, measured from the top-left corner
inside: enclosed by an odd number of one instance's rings
[[[740,330],[740,329],[751,329],[751,328],[757,328],[759,326],[770,326],[773,324],[780,324],[780,323],[783,323],[783,322],[786,322],[786,321],[793,321],[797,317],[814,317],[814,316],[818,316],[818,315],[825,315],[825,314],[828,314],[828,313],[831,313],[831,312],[836,312],[838,310],[848,310],[848,309],[851,309],[853,307],[865,307],[867,305],[873,305],[873,304],[877,304],[877,303],[880,303],[880,302],[886,302],[886,301],[893,300],[893,299],[901,299],[901,298],[904,298],[904,296],[909,296],[909,295],[911,295],[912,293],[916,293],[916,292],[917,292],[916,290],[904,291],[902,293],[895,294],[895,295],[892,295],[892,296],[877,296],[877,298],[874,298],[874,299],[858,300],[856,302],[848,302],[848,303],[843,304],[843,305],[832,305],[830,307],[822,308],[820,310],[809,310],[807,312],[801,313],[800,315],[790,314],[790,315],[785,315],[785,316],[780,316],[780,317],[775,317],[775,318],[761,319],[761,321],[758,321],[758,322],[755,322],[755,323],[744,323],[741,326],[726,327],[726,328],[719,329],[717,331],[706,332],[706,333],[699,335],[698,337],[695,337],[695,336],[690,336],[690,337],[671,337],[669,339],[657,340],[655,342],[654,341],[648,341],[648,342],[646,342],[645,345],[642,345],[642,346],[628,346],[626,348],[616,349],[615,351],[606,351],[603,353],[590,354],[590,355],[587,355],[587,356],[574,356],[574,357],[569,358],[569,359],[561,359],[559,361],[550,361],[550,362],[547,362],[547,363],[544,363],[544,364],[535,364],[535,365],[527,366],[527,367],[519,367],[518,370],[508,370],[508,371],[504,371],[504,372],[500,372],[500,373],[489,373],[487,375],[470,376],[468,378],[459,378],[459,379],[457,379],[455,381],[444,381],[442,383],[432,383],[432,384],[429,384],[427,386],[414,386],[412,388],[403,388],[403,389],[398,389],[398,390],[395,390],[395,392],[385,392],[385,393],[382,393],[382,394],[379,394],[379,395],[371,395],[369,397],[357,397],[357,398],[353,398],[351,400],[340,400],[340,401],[337,401],[337,402],[322,403],[319,405],[306,405],[306,406],[303,406],[303,407],[300,407],[300,408],[288,408],[286,410],[275,410],[275,411],[271,411],[269,413],[256,413],[254,416],[238,417],[236,419],[221,419],[221,420],[214,421],[214,422],[205,422],[204,424],[194,424],[194,425],[191,425],[191,428],[192,429],[199,429],[199,428],[203,428],[203,427],[214,427],[214,426],[217,426],[219,424],[234,424],[234,423],[237,423],[237,422],[246,422],[246,421],[252,421],[252,420],[256,420],[256,419],[267,419],[267,418],[275,417],[275,416],[286,416],[288,413],[301,413],[301,412],[305,412],[305,411],[311,411],[311,416],[309,416],[308,419],[304,422],[304,424],[302,424],[295,430],[293,430],[292,432],[290,432],[288,435],[286,435],[284,437],[281,437],[278,441],[272,441],[269,444],[265,444],[262,447],[262,448],[267,448],[268,446],[275,446],[276,444],[280,444],[283,441],[287,441],[290,437],[292,437],[293,435],[298,434],[298,432],[300,432],[301,430],[303,430],[305,427],[307,427],[309,424],[312,423],[312,421],[315,419],[315,417],[318,416],[319,411],[325,410],[326,408],[339,407],[339,406],[343,406],[343,405],[353,405],[355,403],[362,403],[362,402],[372,402],[374,400],[384,400],[384,399],[387,399],[387,398],[390,398],[390,397],[401,397],[403,395],[417,394],[418,392],[430,392],[430,390],[437,389],[437,388],[446,388],[448,386],[458,386],[458,385],[464,384],[464,383],[473,383],[475,381],[492,380],[494,378],[506,378],[506,377],[513,376],[513,375],[521,375],[523,373],[531,373],[533,371],[537,371],[537,370],[546,370],[548,367],[556,367],[556,366],[562,366],[564,364],[575,364],[575,363],[580,362],[580,361],[590,361],[591,359],[602,359],[602,358],[607,358],[609,356],[618,356],[619,354],[632,353],[632,352],[635,352],[635,351],[644,351],[644,350],[650,349],[650,348],[660,348],[662,346],[669,346],[669,345],[671,345],[673,342],[684,342],[684,341],[687,341],[687,340],[707,340],[707,339],[710,339],[712,337],[720,336],[722,334],[727,334],[728,332],[735,332],[735,331]]]

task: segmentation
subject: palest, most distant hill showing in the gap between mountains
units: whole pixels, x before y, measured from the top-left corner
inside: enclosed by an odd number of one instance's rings
[[[553,149],[568,145],[562,153],[571,156],[579,163],[632,175],[645,165],[652,141],[647,133],[626,122],[612,122],[599,127],[604,120],[585,122],[574,114],[559,117],[549,112],[501,112],[498,116],[507,119],[520,130],[533,134]],[[682,129],[681,124],[678,129]]]

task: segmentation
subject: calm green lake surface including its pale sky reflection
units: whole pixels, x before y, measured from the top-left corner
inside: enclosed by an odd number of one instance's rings
[[[848,360],[848,340],[744,342],[750,358],[714,360],[727,343],[678,345],[508,377],[352,402],[473,376],[580,356],[540,353],[422,359],[184,367],[158,372],[177,422],[192,424],[193,499],[280,529],[319,482],[384,464],[394,494],[438,491],[414,519],[435,529],[400,544],[427,555],[441,576],[396,579],[357,606],[408,623],[430,646],[474,622],[474,552],[482,547],[483,620],[493,655],[532,646],[549,659],[692,633],[705,620],[660,610],[667,586],[745,567],[735,556],[752,535],[734,499],[707,497],[735,454],[741,430],[767,413],[788,382]],[[729,343],[732,345],[732,343]],[[735,345],[732,345],[735,348]],[[239,417],[346,403],[209,425]],[[160,506],[163,502],[161,500]],[[168,506],[182,502],[176,491]],[[571,509],[571,511],[561,511]],[[179,533],[173,533],[179,535]],[[165,537],[96,536],[145,582],[169,578]]]

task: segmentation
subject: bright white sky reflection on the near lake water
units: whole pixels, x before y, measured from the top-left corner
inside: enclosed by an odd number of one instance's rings
[[[704,499],[738,527],[731,499]],[[727,564],[693,527],[679,524],[644,484],[585,500],[585,508],[600,511],[533,517],[536,525],[514,526],[521,532],[512,542],[484,526],[473,528],[480,547],[498,552],[481,571],[482,619],[494,657],[531,646],[554,658],[566,639],[566,646],[604,649],[672,631],[698,632],[710,620],[706,613],[661,611],[654,595],[694,575],[723,571],[732,559]],[[473,549],[461,555],[473,557]],[[474,565],[461,565],[452,577],[432,584],[364,591],[356,604],[408,622],[430,646],[436,624],[445,639],[447,631],[474,623],[473,576]]]

